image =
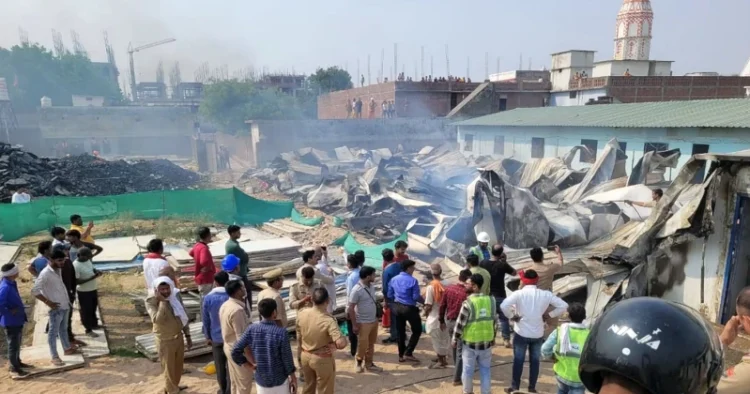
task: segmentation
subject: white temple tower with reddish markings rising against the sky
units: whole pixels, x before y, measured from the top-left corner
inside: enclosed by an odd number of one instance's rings
[[[650,0],[623,0],[617,14],[614,60],[648,60],[653,22]]]

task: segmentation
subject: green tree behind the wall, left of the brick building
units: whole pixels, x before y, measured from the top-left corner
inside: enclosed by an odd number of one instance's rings
[[[302,110],[294,97],[276,89],[261,89],[251,81],[231,79],[215,81],[203,88],[201,115],[236,134],[246,128],[245,121],[299,119]]]

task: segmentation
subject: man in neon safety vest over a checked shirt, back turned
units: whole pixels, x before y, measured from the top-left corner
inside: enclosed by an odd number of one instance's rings
[[[495,324],[497,324],[497,310],[495,297],[481,292],[484,278],[474,274],[466,282],[469,298],[461,306],[461,313],[456,321],[453,332],[453,347],[462,342],[461,359],[464,364],[461,380],[464,393],[474,392],[474,365],[479,364],[479,381],[481,393],[490,394],[490,364],[492,363],[492,347],[495,346]]]

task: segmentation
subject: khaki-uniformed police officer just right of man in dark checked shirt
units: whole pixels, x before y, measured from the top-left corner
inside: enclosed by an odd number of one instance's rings
[[[305,386],[302,394],[333,394],[336,381],[336,349],[346,347],[346,338],[341,335],[336,319],[328,314],[330,302],[324,287],[313,291],[314,306],[297,315],[299,346],[302,349],[302,373]]]

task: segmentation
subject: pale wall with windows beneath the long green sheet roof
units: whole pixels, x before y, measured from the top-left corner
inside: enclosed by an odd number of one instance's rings
[[[505,127],[459,126],[458,144],[466,156],[512,157],[530,161],[541,157],[560,157],[576,145],[585,145],[601,154],[609,140],[617,138],[628,156],[628,174],[645,151],[680,149],[678,167],[667,170],[668,180],[695,153],[729,153],[750,149],[750,129],[644,129],[603,127]],[[596,160],[577,155],[573,168],[591,166]]]

